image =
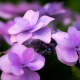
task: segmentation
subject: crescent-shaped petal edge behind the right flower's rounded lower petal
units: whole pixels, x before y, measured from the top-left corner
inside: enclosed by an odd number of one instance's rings
[[[75,64],[77,63],[77,61],[75,61],[75,62],[66,62],[65,60],[63,60],[63,58],[62,58],[62,50],[63,50],[63,49],[62,49],[60,46],[56,46],[56,53],[57,53],[58,59],[59,59],[62,63],[66,64],[66,65],[68,65],[68,66],[73,66],[73,65],[75,65]]]

